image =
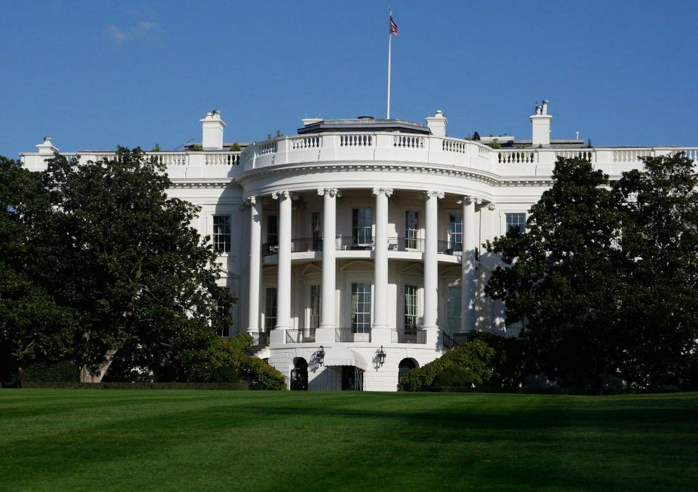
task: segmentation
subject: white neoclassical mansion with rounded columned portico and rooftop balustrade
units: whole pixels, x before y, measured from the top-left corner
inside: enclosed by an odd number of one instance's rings
[[[394,391],[401,371],[467,331],[517,334],[484,296],[498,260],[482,244],[524,228],[558,156],[587,158],[611,177],[641,156],[698,159],[698,147],[551,140],[551,119],[544,100],[531,140],[496,137],[499,149],[487,145],[495,137],[447,137],[437,111],[426,126],[304,119],[297,135],[231,151],[216,111],[200,120],[202,151],[152,155],[168,167],[170,195],[202,207],[196,225],[220,252],[221,286],[239,297],[232,331],[251,333],[258,357],[309,389]],[[36,147],[21,154],[32,170],[57,151],[50,137]]]

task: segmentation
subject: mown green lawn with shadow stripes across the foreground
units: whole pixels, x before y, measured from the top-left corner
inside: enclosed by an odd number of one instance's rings
[[[3,389],[0,489],[695,490],[698,394]]]

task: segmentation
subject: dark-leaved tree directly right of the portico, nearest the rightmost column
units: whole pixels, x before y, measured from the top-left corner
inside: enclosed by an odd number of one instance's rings
[[[553,180],[531,207],[526,232],[487,242],[506,265],[485,292],[505,301],[507,325],[523,325],[538,369],[560,385],[599,387],[618,360],[615,195],[607,175],[578,158],[558,158]]]

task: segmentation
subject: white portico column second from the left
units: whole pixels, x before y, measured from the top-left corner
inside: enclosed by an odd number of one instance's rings
[[[291,195],[288,191],[272,193],[279,200],[279,284],[276,288],[276,327],[291,327]]]

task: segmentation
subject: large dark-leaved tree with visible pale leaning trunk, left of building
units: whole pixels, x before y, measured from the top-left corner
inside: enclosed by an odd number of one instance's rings
[[[208,238],[191,227],[198,207],[168,197],[164,165],[123,147],[97,162],[56,154],[43,186],[55,212],[41,226],[36,276],[77,317],[80,380],[101,381],[120,351],[151,366],[184,348],[206,357],[233,299],[216,285]]]

